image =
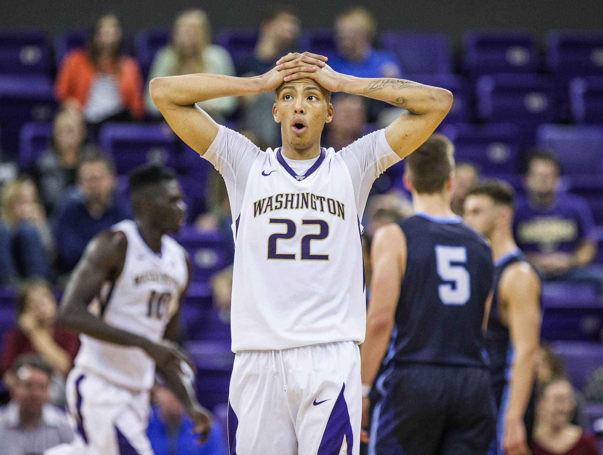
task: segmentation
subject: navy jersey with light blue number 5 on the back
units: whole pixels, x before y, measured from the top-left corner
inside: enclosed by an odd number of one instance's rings
[[[485,368],[482,324],[493,276],[485,238],[459,217],[419,214],[400,228],[406,272],[386,361]]]

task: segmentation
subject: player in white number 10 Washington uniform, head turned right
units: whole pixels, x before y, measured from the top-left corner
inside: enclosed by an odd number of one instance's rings
[[[190,262],[166,234],[185,221],[182,192],[157,165],[134,170],[129,182],[134,221],[90,241],[65,291],[60,322],[81,340],[67,380],[77,436],[46,455],[153,455],[147,420],[156,366],[195,430],[202,438],[209,430],[210,415],[186,378],[188,358],[174,344]]]

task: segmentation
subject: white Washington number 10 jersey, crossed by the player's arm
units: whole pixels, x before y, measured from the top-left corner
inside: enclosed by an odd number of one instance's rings
[[[157,255],[131,220],[115,224],[112,230],[124,232],[128,241],[124,269],[115,282],[103,285],[89,310],[112,326],[159,342],[188,281],[185,250],[164,235]],[[80,341],[75,365],[82,370],[131,390],[153,386],[155,364],[142,349],[86,335],[80,335]]]

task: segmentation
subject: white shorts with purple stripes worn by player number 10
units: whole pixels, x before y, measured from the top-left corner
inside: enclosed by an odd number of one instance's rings
[[[133,393],[75,368],[67,378],[67,404],[75,439],[44,455],[153,455],[148,392]]]

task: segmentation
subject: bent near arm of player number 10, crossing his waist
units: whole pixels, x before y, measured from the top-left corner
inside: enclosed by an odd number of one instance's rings
[[[127,238],[123,232],[101,232],[90,242],[69,279],[61,303],[59,322],[66,329],[98,340],[144,349],[157,365],[178,364],[183,354],[170,345],[107,324],[88,310],[107,281],[124,267]]]

